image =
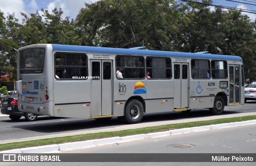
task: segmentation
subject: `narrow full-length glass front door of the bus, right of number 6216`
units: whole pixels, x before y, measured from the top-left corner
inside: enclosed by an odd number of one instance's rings
[[[229,105],[240,104],[240,66],[229,65]]]

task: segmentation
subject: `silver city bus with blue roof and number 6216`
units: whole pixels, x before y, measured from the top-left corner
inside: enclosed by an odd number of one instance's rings
[[[22,112],[139,123],[144,113],[220,115],[225,105],[244,104],[238,56],[55,44],[15,51]]]

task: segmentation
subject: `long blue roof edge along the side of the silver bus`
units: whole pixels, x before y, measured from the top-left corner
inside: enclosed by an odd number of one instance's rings
[[[183,53],[183,52],[154,51],[154,50],[140,50],[140,49],[120,49],[120,48],[90,47],[90,46],[78,46],[78,45],[52,44],[52,49],[53,51],[71,51],[71,52],[84,52],[84,53],[142,55],[142,56],[149,55],[149,56],[162,56],[162,57],[242,61],[241,57],[234,56],[234,55],[214,55],[214,54]]]

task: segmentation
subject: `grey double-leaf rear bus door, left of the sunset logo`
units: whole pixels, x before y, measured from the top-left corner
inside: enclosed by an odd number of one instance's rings
[[[91,118],[112,115],[112,64],[112,60],[91,60]]]

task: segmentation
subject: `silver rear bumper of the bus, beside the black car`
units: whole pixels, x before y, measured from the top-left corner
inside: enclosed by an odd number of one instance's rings
[[[18,100],[18,109],[21,112],[34,113],[36,115],[53,116],[53,101],[41,104],[25,103]]]

